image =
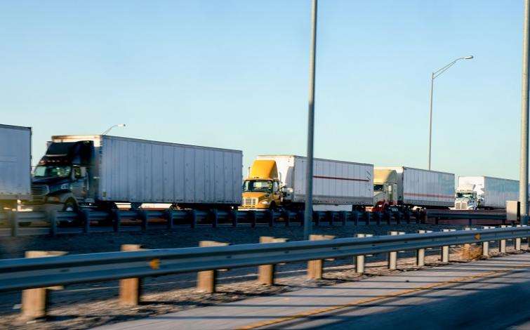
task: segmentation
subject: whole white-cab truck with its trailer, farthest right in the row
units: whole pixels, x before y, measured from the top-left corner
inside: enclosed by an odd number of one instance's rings
[[[505,209],[506,201],[519,199],[519,181],[489,176],[460,176],[456,210]]]

